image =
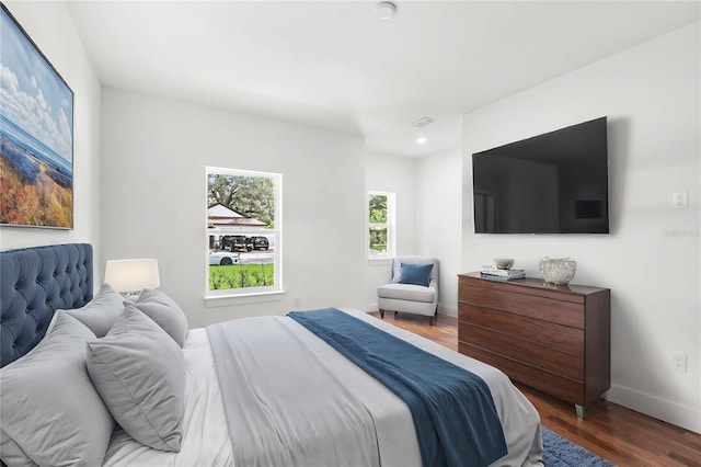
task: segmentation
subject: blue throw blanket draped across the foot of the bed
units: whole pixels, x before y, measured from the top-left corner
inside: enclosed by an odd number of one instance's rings
[[[479,376],[337,309],[288,316],[409,406],[424,466],[487,466],[507,454],[492,394]]]

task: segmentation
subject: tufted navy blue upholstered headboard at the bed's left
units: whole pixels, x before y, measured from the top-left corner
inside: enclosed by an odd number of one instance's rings
[[[89,243],[0,252],[0,366],[42,340],[54,311],[82,307],[92,291]]]

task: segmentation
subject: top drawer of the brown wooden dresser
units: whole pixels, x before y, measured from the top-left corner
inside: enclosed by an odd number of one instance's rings
[[[498,287],[498,285],[503,285]],[[459,300],[483,308],[494,308],[514,315],[584,329],[584,299],[565,301],[520,293],[491,281],[466,281],[459,285]]]

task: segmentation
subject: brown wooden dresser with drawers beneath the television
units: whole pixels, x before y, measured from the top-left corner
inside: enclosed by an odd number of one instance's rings
[[[459,274],[458,350],[573,402],[579,418],[610,387],[608,288]]]

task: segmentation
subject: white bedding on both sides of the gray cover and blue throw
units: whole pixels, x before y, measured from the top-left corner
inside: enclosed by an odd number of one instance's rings
[[[542,465],[538,413],[502,372],[366,314],[354,310],[344,311],[480,375],[490,386],[508,446],[507,456],[495,465]],[[281,323],[299,338],[306,349],[315,356],[313,360],[319,365],[330,368],[341,385],[348,389],[349,394],[368,411],[377,433],[379,456],[377,464],[403,467],[421,465],[421,453],[411,412],[404,402],[384,386],[289,318],[248,318],[237,320],[235,326],[240,327],[243,334],[255,335],[255,341],[260,343],[260,339],[265,339],[265,327],[271,322],[277,323],[275,326]],[[271,340],[269,345],[275,345],[274,340]],[[183,352],[186,377],[184,435],[181,452],[165,453],[151,449],[131,440],[122,430],[116,430],[105,456],[105,466],[234,465],[232,443],[207,330],[204,328],[191,330]],[[299,365],[311,364],[309,352]],[[265,373],[265,368],[262,372]],[[271,375],[271,377],[274,376]]]

